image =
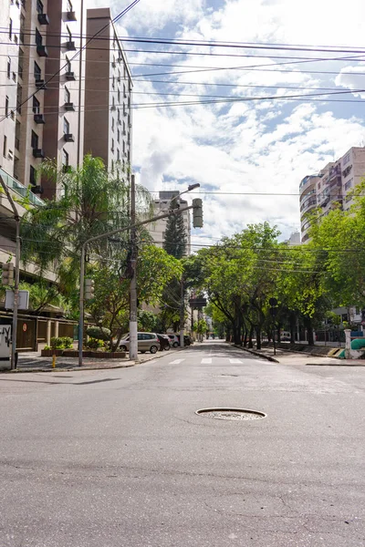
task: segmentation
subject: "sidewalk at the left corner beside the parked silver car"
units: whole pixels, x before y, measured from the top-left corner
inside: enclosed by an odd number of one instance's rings
[[[177,347],[173,350],[181,351],[184,348]],[[128,368],[139,363],[158,359],[167,354],[166,351],[158,351],[156,354],[139,354],[138,361],[130,361],[127,357],[124,359],[93,359],[91,357],[83,358],[83,365],[78,366],[77,357],[57,357],[56,368],[52,368],[52,357],[41,357],[38,352],[20,353],[16,370],[3,370],[1,373],[20,373],[20,372],[57,372],[57,370],[107,370],[110,368]]]

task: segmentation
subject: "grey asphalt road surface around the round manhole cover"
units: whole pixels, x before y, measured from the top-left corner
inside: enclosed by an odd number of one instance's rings
[[[365,367],[206,343],[0,376],[1,547],[365,545]],[[218,420],[207,407],[267,418]]]

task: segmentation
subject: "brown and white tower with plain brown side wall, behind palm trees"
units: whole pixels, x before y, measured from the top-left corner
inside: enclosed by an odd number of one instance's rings
[[[87,40],[84,150],[102,158],[109,170],[120,162],[127,173],[132,81],[109,8],[88,9]]]

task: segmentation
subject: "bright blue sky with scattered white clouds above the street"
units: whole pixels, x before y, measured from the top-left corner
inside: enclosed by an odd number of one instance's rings
[[[88,7],[110,6],[115,16],[130,2],[89,0]],[[248,45],[124,42],[133,170],[150,191],[200,183],[204,225],[193,230],[194,244],[265,221],[286,239],[300,229],[303,177],[365,145],[364,20],[363,0],[141,0],[120,19],[121,38]],[[361,46],[362,56],[318,51]],[[288,97],[334,91],[348,93]],[[166,104],[176,101],[198,104]]]

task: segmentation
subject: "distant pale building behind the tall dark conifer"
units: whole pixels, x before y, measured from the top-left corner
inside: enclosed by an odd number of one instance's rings
[[[160,191],[159,199],[154,201],[155,215],[168,212],[170,207],[170,201],[172,200],[172,198],[175,198],[178,194],[179,194],[178,191]],[[188,202],[185,200],[178,200],[178,202],[180,203],[180,206],[182,208],[188,206]],[[151,234],[153,242],[158,247],[162,247],[162,244],[163,244],[163,238],[166,231],[166,222],[167,222],[167,219],[161,219],[160,221],[153,222],[152,224],[146,225],[146,228]],[[187,239],[186,253],[190,254],[191,253],[191,232],[192,232],[190,211],[183,212],[183,225],[185,227],[186,239]]]

